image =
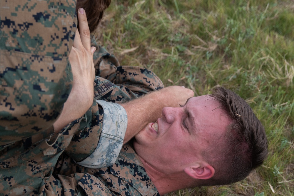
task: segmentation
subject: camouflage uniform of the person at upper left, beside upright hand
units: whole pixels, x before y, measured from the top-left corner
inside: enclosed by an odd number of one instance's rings
[[[74,0],[0,0],[0,150],[61,113],[76,24]]]

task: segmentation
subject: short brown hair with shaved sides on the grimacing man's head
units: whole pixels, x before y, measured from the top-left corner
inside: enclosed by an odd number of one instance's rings
[[[216,87],[210,98],[216,100],[231,123],[225,134],[216,134],[213,145],[203,152],[215,169],[211,179],[201,180],[204,186],[225,185],[243,180],[260,166],[268,154],[263,125],[250,106],[234,92]]]

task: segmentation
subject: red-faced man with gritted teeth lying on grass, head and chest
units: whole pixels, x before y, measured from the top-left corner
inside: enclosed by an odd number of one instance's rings
[[[161,118],[123,145],[113,165],[84,167],[64,154],[56,175],[61,182],[77,180],[88,195],[164,195],[243,180],[266,155],[265,130],[251,108],[216,87],[181,107],[163,108]]]

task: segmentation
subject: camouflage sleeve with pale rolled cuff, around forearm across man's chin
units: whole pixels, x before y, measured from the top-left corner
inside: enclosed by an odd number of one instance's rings
[[[121,105],[94,100],[65,152],[86,167],[112,165],[121,150],[127,123],[126,110]]]

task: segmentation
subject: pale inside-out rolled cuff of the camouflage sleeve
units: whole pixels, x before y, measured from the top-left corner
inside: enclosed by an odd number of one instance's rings
[[[103,108],[103,127],[97,148],[79,165],[103,168],[112,165],[119,155],[128,124],[126,110],[117,103],[96,100]]]

